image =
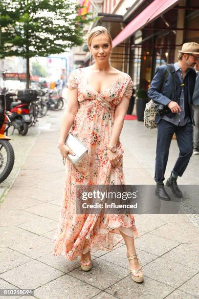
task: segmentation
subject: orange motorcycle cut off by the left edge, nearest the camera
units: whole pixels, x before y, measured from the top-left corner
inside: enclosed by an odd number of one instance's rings
[[[13,169],[15,154],[10,138],[7,136],[6,124],[10,123],[9,117],[6,116],[6,90],[0,92],[0,183],[4,181]],[[6,135],[5,135],[6,134]]]

